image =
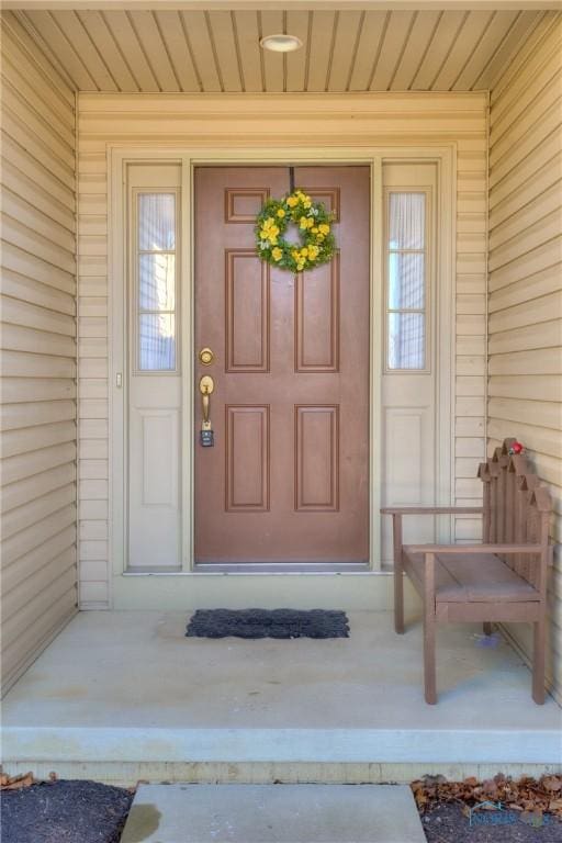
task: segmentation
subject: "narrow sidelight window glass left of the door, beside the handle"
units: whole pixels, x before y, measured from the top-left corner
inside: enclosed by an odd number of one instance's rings
[[[177,369],[175,193],[137,193],[136,336],[139,371]]]

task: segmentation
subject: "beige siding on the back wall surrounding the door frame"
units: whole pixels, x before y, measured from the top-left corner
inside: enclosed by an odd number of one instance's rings
[[[456,499],[480,499],[484,454],[486,105],[483,93],[193,98],[80,94],[79,438],[81,606],[110,604],[108,558],[108,144],[427,146],[457,150]],[[350,126],[352,126],[350,128]],[[413,132],[415,126],[415,133]],[[458,538],[480,525],[459,520]]]

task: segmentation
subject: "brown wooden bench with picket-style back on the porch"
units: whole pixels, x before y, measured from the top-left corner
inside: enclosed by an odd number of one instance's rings
[[[437,702],[435,630],[439,621],[533,625],[532,698],[544,702],[547,566],[551,564],[549,520],[552,501],[522,454],[510,454],[505,439],[480,464],[482,507],[384,507],[394,532],[394,622],[404,632],[403,573],[424,604],[426,702]],[[483,516],[481,544],[403,544],[405,515]]]

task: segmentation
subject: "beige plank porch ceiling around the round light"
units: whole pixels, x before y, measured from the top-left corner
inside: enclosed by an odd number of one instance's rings
[[[491,88],[543,11],[7,12],[82,91],[469,91]],[[304,48],[259,47],[289,32]]]

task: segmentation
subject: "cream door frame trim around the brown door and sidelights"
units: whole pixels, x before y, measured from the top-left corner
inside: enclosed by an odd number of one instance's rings
[[[226,143],[226,139],[225,139]],[[370,573],[384,573],[381,566],[382,505],[382,412],[376,411],[381,397],[383,374],[383,186],[382,168],[385,161],[435,161],[438,166],[437,214],[441,236],[437,247],[435,337],[437,361],[436,442],[436,505],[450,505],[453,490],[453,418],[454,418],[454,278],[456,278],[456,144],[436,146],[384,147],[280,147],[239,148],[161,147],[108,145],[109,198],[109,550],[113,575],[127,577],[184,575],[203,576],[194,566],[194,453],[192,430],[194,425],[194,169],[199,166],[279,166],[290,161],[294,166],[363,165],[370,168],[370,396],[369,396],[369,567]],[[126,167],[128,164],[181,164],[181,261],[180,316],[182,326],[181,372],[182,390],[182,567],[177,572],[130,573],[125,567],[127,553],[127,463],[126,417],[127,390],[123,378],[127,364],[126,348]],[[116,385],[121,374],[123,386]],[[439,540],[448,540],[451,519],[440,519]],[[207,572],[205,572],[207,573]],[[232,573],[236,573],[233,571]],[[258,573],[258,572],[256,572]],[[261,570],[259,573],[263,573]],[[299,566],[292,569],[299,573]],[[303,573],[310,574],[308,567]],[[323,566],[318,573],[328,573]],[[247,574],[247,571],[245,572]],[[353,576],[356,572],[338,575]],[[231,574],[229,574],[231,575]],[[240,572],[241,575],[241,572]]]

